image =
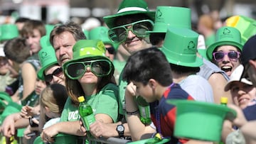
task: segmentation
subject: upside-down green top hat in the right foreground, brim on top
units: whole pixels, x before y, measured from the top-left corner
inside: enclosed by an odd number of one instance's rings
[[[236,112],[227,106],[202,101],[168,100],[176,105],[174,136],[196,140],[220,141],[223,121]]]

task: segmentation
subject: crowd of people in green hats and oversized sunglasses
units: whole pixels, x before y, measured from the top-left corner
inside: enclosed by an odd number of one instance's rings
[[[1,99],[2,143],[55,143],[61,133],[81,143],[156,135],[166,143],[256,143],[256,33],[245,40],[241,28],[217,27],[210,15],[193,28],[191,9],[149,11],[144,0],[123,0],[103,20],[86,31],[30,18],[0,26],[0,95],[11,99]],[[90,131],[79,96],[93,109]],[[137,96],[151,123],[142,122]],[[221,97],[236,114],[223,118],[219,141],[175,135],[177,106],[169,101],[218,106]]]

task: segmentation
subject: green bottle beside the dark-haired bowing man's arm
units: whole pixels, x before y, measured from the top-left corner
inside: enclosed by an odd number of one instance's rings
[[[149,103],[142,96],[137,96],[137,104],[139,107],[140,121],[148,125],[151,123]]]

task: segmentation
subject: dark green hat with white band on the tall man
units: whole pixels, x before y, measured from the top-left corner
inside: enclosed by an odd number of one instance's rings
[[[149,18],[154,21],[155,12],[149,11],[146,1],[144,0],[123,0],[122,3],[119,4],[119,8],[116,14],[111,16],[105,16],[103,17],[103,19],[109,28],[113,28],[115,18],[118,18],[119,16],[139,13],[149,16]]]

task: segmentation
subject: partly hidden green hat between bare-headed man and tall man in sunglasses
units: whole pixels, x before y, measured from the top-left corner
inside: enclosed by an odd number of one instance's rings
[[[107,33],[108,31],[109,31],[109,29],[105,26],[99,26],[97,28],[93,28],[89,32],[89,38],[90,38],[90,40],[100,39],[100,40],[102,40],[102,42],[104,44],[110,44],[114,47],[115,50],[117,50],[118,44],[113,43],[112,40],[110,40],[110,38],[108,37],[108,33]]]

